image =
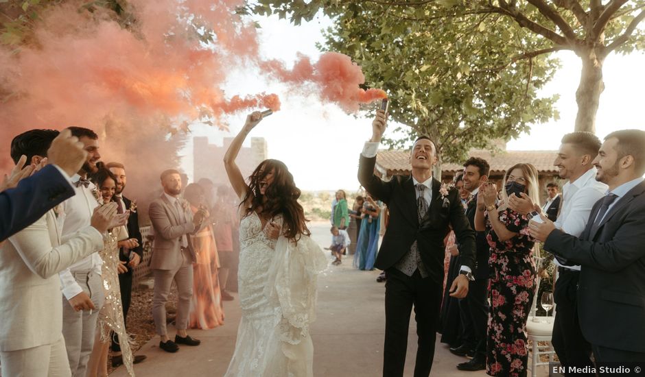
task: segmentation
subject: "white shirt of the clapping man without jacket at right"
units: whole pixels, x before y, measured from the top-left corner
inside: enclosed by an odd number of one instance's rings
[[[572,236],[580,236],[587,226],[591,207],[605,195],[607,184],[596,180],[598,170],[593,167],[574,182],[567,182],[562,188],[562,208],[557,221],[556,228]],[[557,259],[553,260],[556,265],[580,271],[580,266],[563,266]]]

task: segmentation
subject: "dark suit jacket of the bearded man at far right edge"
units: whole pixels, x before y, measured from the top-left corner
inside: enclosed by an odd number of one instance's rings
[[[544,248],[578,265],[578,317],[587,341],[645,352],[645,182],[607,212],[591,234],[602,199],[580,238],[554,230]]]

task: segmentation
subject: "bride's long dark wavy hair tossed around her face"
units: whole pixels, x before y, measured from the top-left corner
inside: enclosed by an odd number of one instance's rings
[[[266,188],[265,194],[260,193],[260,182],[268,173],[274,171],[273,182]],[[301,234],[309,236],[312,232],[307,228],[307,219],[305,219],[305,210],[298,203],[301,195],[300,189],[294,183],[294,176],[287,169],[287,165],[279,160],[264,160],[255,168],[255,171],[248,178],[248,190],[244,195],[242,205],[250,206],[244,209],[244,216],[262,208],[260,215],[272,218],[282,215],[284,219],[283,236],[290,241],[297,242]],[[266,202],[263,202],[263,196],[266,196]]]

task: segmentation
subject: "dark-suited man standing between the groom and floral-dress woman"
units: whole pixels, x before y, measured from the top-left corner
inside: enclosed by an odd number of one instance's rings
[[[471,228],[475,229],[475,213],[477,212],[477,195],[479,187],[488,180],[491,167],[483,158],[471,157],[464,163],[464,189],[472,197],[467,204],[466,217]],[[486,241],[486,232],[476,232],[476,258],[473,280],[468,287],[468,295],[460,300],[465,322],[473,328],[475,338],[475,356],[470,361],[460,363],[460,370],[486,369],[486,328],[489,320],[489,254],[490,246]],[[451,350],[452,351],[452,350]],[[456,352],[453,352],[456,353]]]

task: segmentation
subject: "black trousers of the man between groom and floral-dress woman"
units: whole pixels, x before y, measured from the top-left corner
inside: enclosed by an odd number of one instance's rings
[[[459,300],[465,329],[471,328],[475,357],[486,362],[486,331],[489,322],[489,280],[476,279],[468,284],[468,295]]]

